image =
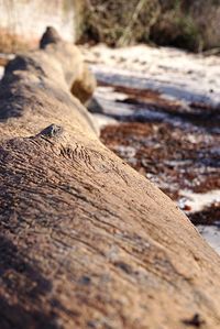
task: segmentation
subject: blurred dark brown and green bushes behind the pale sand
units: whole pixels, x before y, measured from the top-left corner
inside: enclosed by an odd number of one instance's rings
[[[82,41],[139,42],[201,52],[220,45],[220,2],[213,0],[87,0]]]

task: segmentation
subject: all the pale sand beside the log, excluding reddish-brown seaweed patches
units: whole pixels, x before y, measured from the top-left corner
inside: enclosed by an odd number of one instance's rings
[[[98,79],[95,99],[99,106],[92,105],[92,111],[96,112],[94,116],[100,130],[111,124],[116,127],[116,124],[121,124],[122,121],[129,122],[131,118],[132,121],[135,121],[138,117],[139,122],[145,122],[144,120],[146,122],[160,121],[173,127],[174,131],[176,128],[185,131],[185,140],[188,140],[191,145],[195,144],[195,150],[196,146],[207,144],[207,147],[211,147],[209,150],[210,154],[213,153],[217,158],[220,158],[220,140],[217,140],[220,133],[220,121],[218,120],[220,119],[220,57],[194,55],[175,48],[154,48],[146,45],[121,50],[110,50],[105,45],[84,46],[82,52]],[[143,91],[141,97],[136,90]],[[146,91],[151,91],[153,95],[147,96],[151,98],[151,102],[147,98],[144,108],[140,103],[136,107],[133,100],[139,98],[139,101],[142,101]],[[146,101],[146,97],[144,101]],[[162,105],[162,108],[168,107],[169,109],[163,111],[155,107],[156,110],[152,111],[152,103],[154,106]],[[150,107],[147,108],[147,106]],[[210,120],[208,131],[206,124],[199,125],[198,122],[195,124],[194,120],[183,120],[177,116],[170,116],[170,109],[174,107],[178,107],[178,111],[185,116],[195,114],[196,111],[199,116],[200,113],[204,116],[204,111],[212,111],[212,113],[215,111],[216,117],[213,118],[216,119],[212,122]],[[208,117],[207,120],[209,120]],[[122,131],[119,129],[117,132],[116,130],[110,139],[113,140],[117,133],[121,134]],[[124,145],[123,142],[119,142],[117,145],[108,138],[105,139],[105,142],[117,154],[136,167],[138,145],[133,146],[132,143]],[[143,143],[143,140],[141,143]],[[150,146],[151,141],[145,139],[144,143],[148,143]],[[187,158],[184,161],[186,165]],[[169,161],[170,164],[176,168],[180,165],[180,161],[176,163]],[[188,166],[191,166],[190,161]],[[199,169],[201,171],[201,168]],[[211,173],[212,166],[207,164],[202,171],[206,171],[206,174],[207,172]],[[162,187],[155,175],[144,174]],[[216,174],[218,174],[218,165],[216,165]],[[212,180],[212,186],[215,186],[213,177]],[[216,186],[218,187],[218,184]],[[213,202],[218,202],[218,205],[220,202],[219,188],[213,187],[212,190],[210,187],[210,190],[204,193],[198,189],[198,193],[195,193],[190,188],[180,189],[179,186],[177,204],[187,215],[200,213],[199,211],[207,207],[212,207]],[[215,224],[200,224],[198,230],[210,245],[220,253],[219,222],[220,218],[215,218]]]

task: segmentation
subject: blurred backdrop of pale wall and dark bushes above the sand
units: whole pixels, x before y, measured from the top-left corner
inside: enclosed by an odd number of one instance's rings
[[[34,46],[48,24],[75,42],[202,52],[220,46],[220,1],[0,0],[0,50]]]

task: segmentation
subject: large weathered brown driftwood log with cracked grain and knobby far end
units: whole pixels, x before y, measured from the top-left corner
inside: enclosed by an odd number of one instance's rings
[[[99,141],[76,98],[94,87],[52,29],[6,68],[0,328],[220,328],[219,256]]]

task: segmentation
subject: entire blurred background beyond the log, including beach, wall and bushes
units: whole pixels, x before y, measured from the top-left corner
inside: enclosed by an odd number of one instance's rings
[[[96,75],[102,142],[220,252],[220,0],[0,0],[1,75],[47,25]]]

